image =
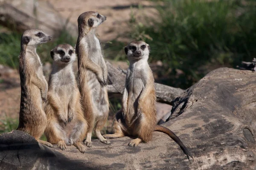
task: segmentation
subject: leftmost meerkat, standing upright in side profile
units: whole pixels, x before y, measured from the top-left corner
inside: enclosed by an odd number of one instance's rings
[[[43,74],[41,59],[36,53],[39,44],[52,37],[39,29],[24,31],[20,41],[20,116],[17,130],[33,136],[39,143],[53,147],[40,140],[47,125],[44,103],[47,99],[48,85]]]

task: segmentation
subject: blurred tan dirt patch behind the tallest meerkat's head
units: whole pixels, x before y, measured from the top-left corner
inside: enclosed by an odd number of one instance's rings
[[[131,13],[137,19],[142,16],[155,17],[155,5],[146,0],[47,0],[63,17],[77,24],[77,18],[85,11],[98,11],[107,16],[107,20],[97,30],[99,39],[107,42],[129,30]],[[132,6],[132,8],[131,8]],[[143,9],[139,9],[142,7]],[[122,39],[122,38],[119,38]]]

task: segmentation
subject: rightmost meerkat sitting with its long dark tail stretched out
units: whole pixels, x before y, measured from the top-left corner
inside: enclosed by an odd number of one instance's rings
[[[169,135],[183,152],[192,157],[180,139],[166,127],[157,125],[156,94],[154,77],[148,65],[149,45],[143,41],[134,41],[125,47],[125,54],[130,62],[125,89],[122,98],[122,110],[116,113],[114,134],[104,135],[105,138],[137,136],[129,146],[137,146],[140,142],[149,142],[154,131]]]

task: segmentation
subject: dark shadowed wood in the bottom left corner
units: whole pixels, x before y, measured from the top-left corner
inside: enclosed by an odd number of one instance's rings
[[[29,134],[13,130],[0,135],[0,170],[93,169],[38,144]]]

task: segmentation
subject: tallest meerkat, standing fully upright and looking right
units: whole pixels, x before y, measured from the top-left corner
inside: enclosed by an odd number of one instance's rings
[[[92,146],[92,130],[96,137],[105,144],[110,144],[100,130],[108,118],[109,103],[106,89],[108,71],[103,58],[99,39],[95,35],[96,28],[106,20],[98,12],[88,11],[78,18],[79,36],[76,43],[78,57],[79,91],[84,108],[88,130],[84,144]]]

